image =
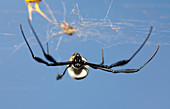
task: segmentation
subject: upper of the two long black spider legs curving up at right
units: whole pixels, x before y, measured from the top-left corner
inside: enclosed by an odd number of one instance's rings
[[[145,45],[146,41],[148,40],[149,36],[151,35],[152,29],[153,29],[153,27],[151,26],[151,27],[150,27],[150,31],[149,31],[146,39],[144,40],[144,42],[142,43],[142,45],[138,48],[138,50],[137,50],[129,59],[125,59],[125,60],[118,61],[118,62],[116,62],[116,63],[111,64],[110,66],[108,66],[108,68],[112,68],[112,67],[116,67],[116,66],[122,66],[122,65],[125,65],[125,64],[127,64],[128,62],[130,62],[130,61],[136,56],[136,54],[141,50],[141,48]]]

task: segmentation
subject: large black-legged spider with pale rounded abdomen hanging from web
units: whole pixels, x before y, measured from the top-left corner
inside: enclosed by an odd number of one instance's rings
[[[148,64],[152,58],[156,55],[156,53],[158,52],[159,50],[159,45],[157,47],[157,50],[155,51],[155,53],[152,55],[152,57],[146,62],[144,63],[140,68],[138,69],[120,69],[120,70],[112,70],[111,68],[113,67],[117,67],[117,66],[123,66],[127,63],[129,63],[133,58],[134,56],[141,50],[141,48],[145,45],[146,41],[148,40],[151,32],[152,32],[152,29],[153,27],[151,26],[150,27],[150,31],[146,37],[146,39],[144,40],[144,42],[142,43],[142,45],[137,49],[137,51],[129,58],[129,59],[125,59],[125,60],[121,60],[121,61],[118,61],[114,64],[111,64],[111,65],[104,65],[104,56],[103,56],[103,49],[102,49],[102,62],[100,64],[95,64],[95,63],[90,63],[90,62],[87,62],[87,60],[82,56],[80,55],[79,53],[74,53],[70,59],[66,62],[57,62],[48,52],[48,46],[47,46],[47,53],[45,52],[35,30],[33,29],[32,27],[32,24],[29,20],[29,25],[31,27],[31,30],[38,42],[38,44],[40,45],[41,47],[41,50],[45,56],[45,58],[49,61],[45,61],[43,60],[42,58],[40,57],[36,57],[34,56],[33,54],[33,51],[24,35],[24,32],[23,32],[23,29],[22,29],[22,25],[20,24],[20,29],[21,29],[21,33],[22,33],[22,36],[29,48],[29,51],[31,52],[31,55],[32,55],[32,58],[34,60],[36,60],[37,62],[39,63],[43,63],[47,66],[63,66],[63,65],[67,65],[67,67],[65,68],[64,72],[63,73],[59,73],[58,76],[56,77],[57,80],[61,79],[64,74],[66,73],[66,70],[68,71],[69,75],[73,78],[73,79],[76,79],[76,80],[80,80],[80,79],[83,79],[85,78],[87,75],[88,75],[88,72],[89,72],[89,67],[93,68],[93,69],[100,69],[100,70],[103,70],[103,71],[107,71],[107,72],[112,72],[112,73],[135,73],[135,72],[138,72],[139,70],[141,70],[146,64]]]

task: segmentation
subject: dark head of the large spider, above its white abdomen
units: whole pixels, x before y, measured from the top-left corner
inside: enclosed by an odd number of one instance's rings
[[[73,62],[73,66],[75,67],[75,68],[80,68],[80,67],[82,67],[82,65],[83,65],[83,60],[82,60],[82,56],[79,54],[79,53],[74,53],[73,54],[73,60],[72,60],[72,62]]]

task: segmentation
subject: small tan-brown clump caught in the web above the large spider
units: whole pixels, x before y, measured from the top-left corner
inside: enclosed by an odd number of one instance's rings
[[[58,26],[60,26],[63,29],[63,32],[67,35],[73,35],[76,32],[76,29],[74,29],[66,21],[63,21],[63,23],[59,23]]]

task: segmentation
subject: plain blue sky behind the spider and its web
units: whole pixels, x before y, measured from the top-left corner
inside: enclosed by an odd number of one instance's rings
[[[129,58],[145,39],[151,25],[154,30],[148,43],[128,65],[115,69],[139,68],[153,55],[157,44],[160,44],[160,50],[146,67],[135,74],[112,74],[90,68],[89,75],[83,80],[74,80],[66,74],[62,80],[56,81],[57,74],[63,72],[65,66],[47,67],[35,62],[21,36],[19,24],[23,25],[35,55],[43,57],[27,22],[25,1],[1,1],[1,109],[170,108],[169,0],[113,0],[108,18],[114,27],[120,27],[118,31],[108,26],[108,20],[103,20],[111,0],[46,2],[58,22],[65,19],[80,30],[73,36],[60,34],[50,38],[50,54],[57,61],[67,61],[74,52],[78,52],[89,62],[100,63],[101,48],[104,48],[105,64]],[[77,24],[80,19],[70,14],[76,3],[79,14],[90,26]],[[40,3],[40,8],[49,16],[43,3]],[[32,23],[40,40],[45,42],[53,25],[36,12]]]

